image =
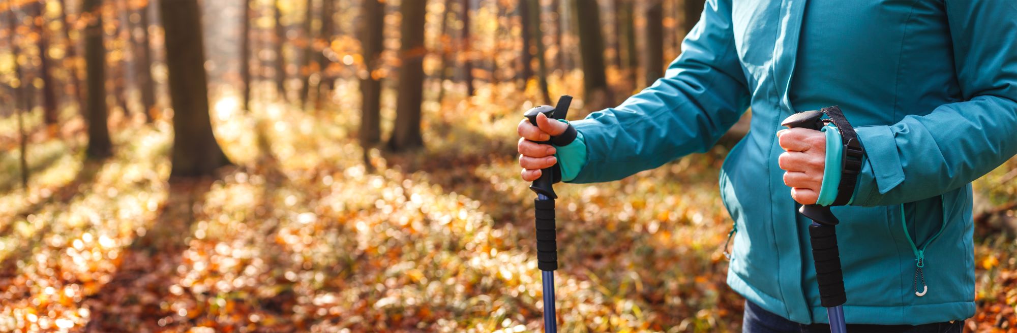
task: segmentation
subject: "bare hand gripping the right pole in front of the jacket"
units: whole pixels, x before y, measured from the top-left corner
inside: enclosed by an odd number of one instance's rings
[[[777,141],[784,153],[777,158],[784,170],[784,185],[791,187],[791,197],[803,205],[819,200],[826,166],[826,134],[804,128],[777,132]]]

